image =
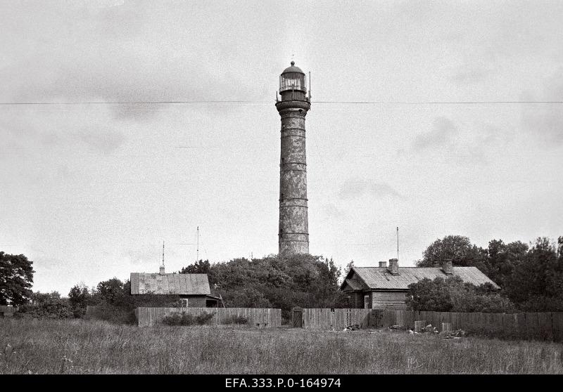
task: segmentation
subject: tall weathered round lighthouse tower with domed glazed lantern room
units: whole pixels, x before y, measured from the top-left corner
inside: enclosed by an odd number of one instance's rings
[[[279,162],[279,255],[309,253],[307,217],[307,159],[305,115],[311,106],[306,96],[305,73],[291,62],[279,77],[276,108],[281,117]]]

